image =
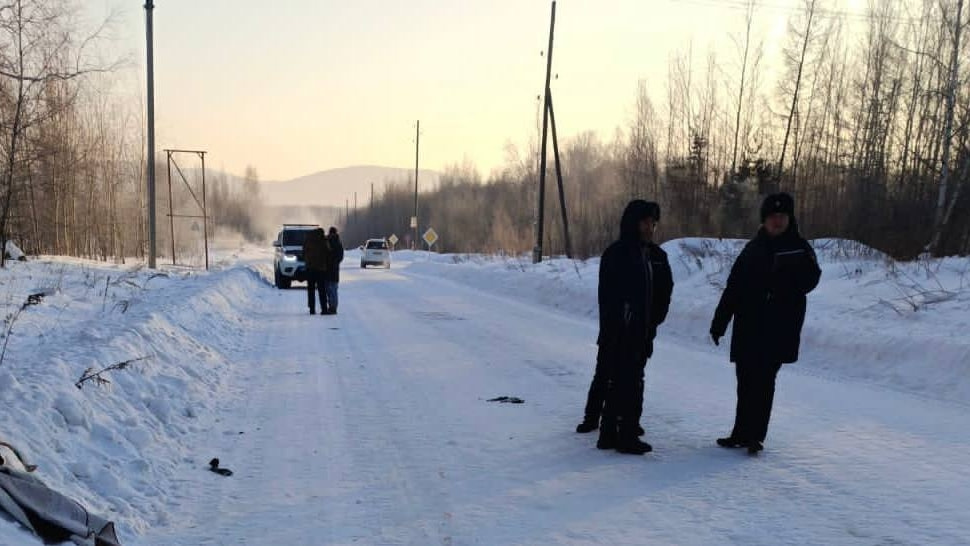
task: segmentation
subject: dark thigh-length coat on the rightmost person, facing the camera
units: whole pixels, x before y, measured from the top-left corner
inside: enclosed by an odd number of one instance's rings
[[[805,295],[821,275],[815,251],[799,235],[794,219],[776,238],[762,228],[734,262],[711,323],[711,333],[721,337],[734,319],[731,361],[796,362]]]

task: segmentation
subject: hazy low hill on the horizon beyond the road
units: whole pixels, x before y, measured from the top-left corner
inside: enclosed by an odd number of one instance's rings
[[[418,184],[421,191],[436,187],[440,173],[422,169]],[[371,184],[377,195],[389,183],[413,180],[414,169],[357,165],[328,169],[292,180],[260,182],[263,203],[271,207],[315,206],[344,207],[347,200],[365,206],[370,201]]]

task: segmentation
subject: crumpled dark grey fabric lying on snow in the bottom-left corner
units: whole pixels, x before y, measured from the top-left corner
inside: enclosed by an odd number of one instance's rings
[[[0,463],[0,509],[14,520],[46,543],[120,546],[113,523],[7,463]]]

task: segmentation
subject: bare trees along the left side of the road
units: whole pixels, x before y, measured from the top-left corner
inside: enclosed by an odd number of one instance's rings
[[[125,87],[135,71],[108,53],[115,17],[91,28],[80,13],[77,1],[0,0],[0,241],[28,254],[144,259],[145,119]],[[156,161],[164,256],[171,254],[166,164]],[[198,193],[198,177],[189,178]],[[212,228],[262,236],[252,212],[256,178],[250,169],[242,181],[208,181]],[[189,207],[177,182],[172,195],[173,208]],[[197,227],[179,223],[183,252],[201,246]]]

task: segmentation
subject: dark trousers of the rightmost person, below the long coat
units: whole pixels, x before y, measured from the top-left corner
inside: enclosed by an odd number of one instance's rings
[[[739,440],[764,442],[775,399],[775,378],[781,364],[738,362],[738,407],[731,436]]]

